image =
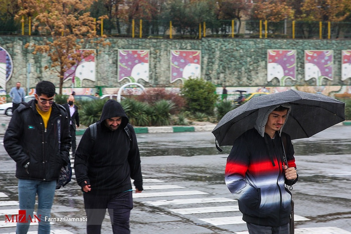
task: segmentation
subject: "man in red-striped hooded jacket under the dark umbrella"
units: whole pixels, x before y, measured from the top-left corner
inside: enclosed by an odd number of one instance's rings
[[[282,132],[290,109],[287,104],[260,108],[256,125],[235,140],[227,158],[225,182],[250,234],[289,233],[291,193],[285,185],[298,180],[291,138]]]

